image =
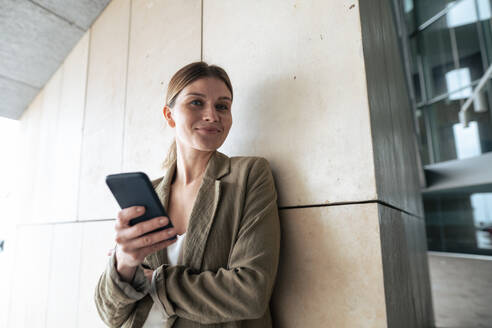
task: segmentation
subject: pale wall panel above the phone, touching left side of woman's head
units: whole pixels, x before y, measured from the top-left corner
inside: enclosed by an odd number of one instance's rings
[[[179,68],[200,60],[200,20],[200,1],[132,3],[125,171],[145,171],[151,178],[163,174],[174,136],[162,114],[167,84]]]

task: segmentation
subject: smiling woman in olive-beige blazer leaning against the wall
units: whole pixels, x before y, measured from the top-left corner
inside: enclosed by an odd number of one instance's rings
[[[232,99],[220,67],[192,63],[172,77],[163,113],[175,142],[165,176],[153,182],[169,218],[130,227],[144,209],[118,213],[115,252],[95,294],[109,326],[271,327],[277,194],[265,159],[217,151]],[[146,234],[168,220],[174,228]]]

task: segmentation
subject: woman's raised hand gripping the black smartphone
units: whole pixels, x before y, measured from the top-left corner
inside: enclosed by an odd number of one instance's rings
[[[166,226],[169,218],[165,216],[130,226],[130,220],[141,216],[144,212],[143,206],[127,207],[118,212],[116,219],[116,270],[127,282],[133,279],[137,266],[147,255],[164,249],[176,241],[176,239],[166,240],[176,235],[173,228],[145,235]]]

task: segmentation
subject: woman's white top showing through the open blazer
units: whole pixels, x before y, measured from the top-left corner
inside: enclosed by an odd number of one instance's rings
[[[181,248],[183,248],[183,241],[186,233],[180,235],[177,235],[178,240],[169,245],[167,247],[167,258],[169,260],[169,264],[171,265],[176,265],[178,264],[178,257],[179,253],[181,252]],[[154,271],[155,273],[155,271]],[[152,276],[152,290],[151,290],[151,296],[152,299],[154,300],[154,304],[152,305],[152,308],[150,309],[149,315],[147,316],[147,319],[145,319],[144,325],[142,328],[162,328],[165,327],[167,318],[169,316],[167,315],[166,311],[164,310],[164,306],[158,301],[157,292],[155,290],[155,276]]]

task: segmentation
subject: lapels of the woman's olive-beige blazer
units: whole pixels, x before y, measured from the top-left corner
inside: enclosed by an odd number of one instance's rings
[[[171,181],[176,170],[176,161],[166,172],[161,183],[156,187],[157,195],[164,208],[168,208]],[[203,262],[203,254],[207,244],[210,228],[215,217],[217,205],[220,200],[220,178],[230,171],[230,159],[226,155],[215,151],[207,163],[202,183],[193,204],[193,209],[188,222],[186,239],[183,245],[183,264],[195,270],[200,270]],[[168,263],[167,251],[159,252],[161,263]]]

